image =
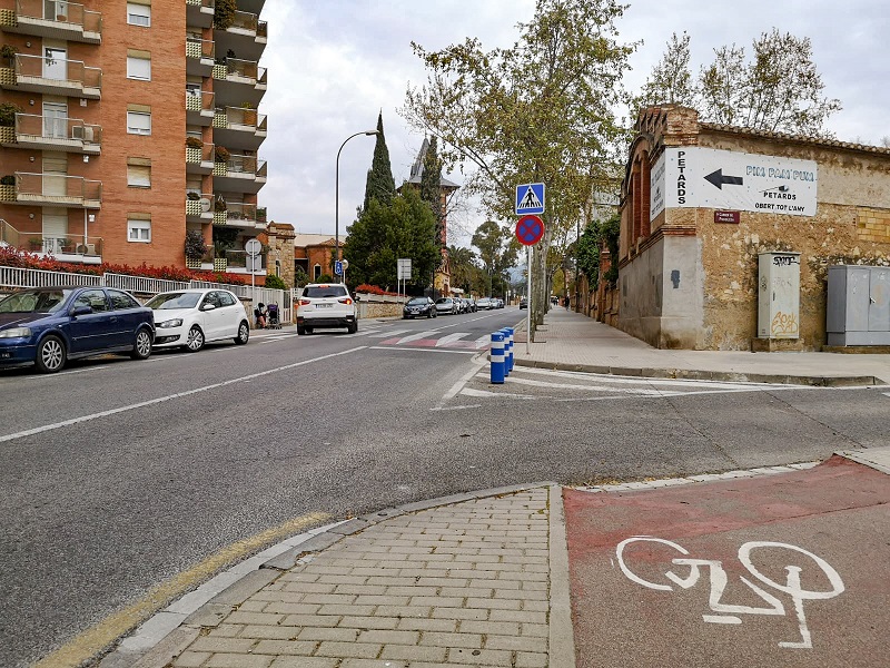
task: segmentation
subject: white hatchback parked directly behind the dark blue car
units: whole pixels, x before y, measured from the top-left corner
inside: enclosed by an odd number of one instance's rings
[[[185,347],[197,353],[210,341],[250,337],[250,323],[241,302],[227,289],[177,289],[155,295],[147,304],[155,312],[154,347]]]

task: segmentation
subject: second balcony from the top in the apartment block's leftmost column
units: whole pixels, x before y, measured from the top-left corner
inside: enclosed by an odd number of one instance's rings
[[[93,100],[102,97],[102,70],[81,60],[17,53],[13,66],[0,68],[0,88]]]

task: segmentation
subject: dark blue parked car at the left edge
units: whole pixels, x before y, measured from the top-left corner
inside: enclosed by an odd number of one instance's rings
[[[55,373],[105,353],[145,360],[154,341],[154,312],[122,289],[36,287],[0,301],[0,367]]]

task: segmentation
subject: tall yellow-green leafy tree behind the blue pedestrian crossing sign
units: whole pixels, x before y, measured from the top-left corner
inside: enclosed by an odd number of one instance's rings
[[[544,238],[534,250],[535,324],[547,295],[544,262],[557,227],[574,227],[596,184],[623,161],[625,139],[613,114],[634,46],[616,41],[614,0],[537,0],[510,49],[484,51],[477,39],[441,51],[413,43],[427,84],[409,88],[407,121],[442,139],[446,164],[476,171],[464,188],[493,218],[513,215],[515,186],[546,186]]]

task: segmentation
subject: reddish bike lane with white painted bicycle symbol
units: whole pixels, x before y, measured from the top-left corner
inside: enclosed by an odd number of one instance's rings
[[[890,665],[890,475],[564,490],[577,668]]]

